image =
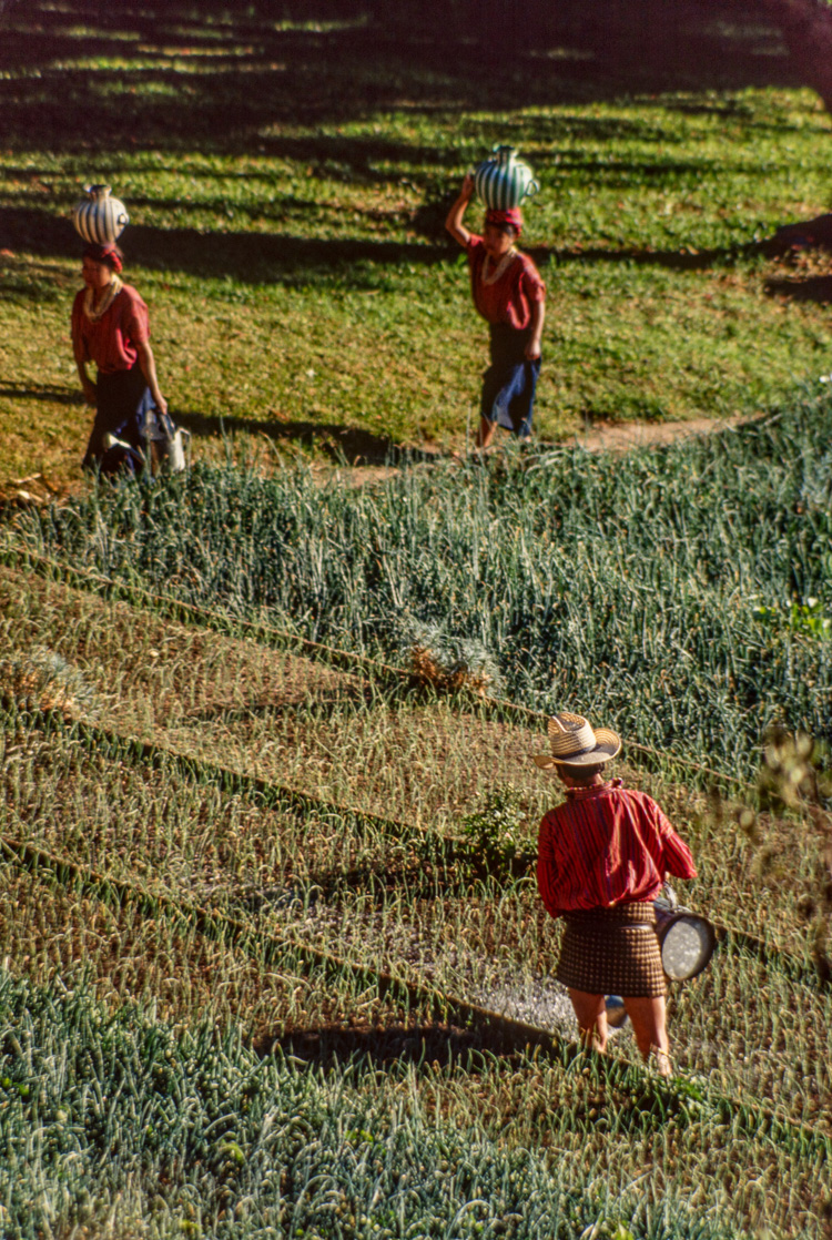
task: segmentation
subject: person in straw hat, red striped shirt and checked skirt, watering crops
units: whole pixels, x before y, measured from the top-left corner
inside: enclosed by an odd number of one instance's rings
[[[534,761],[567,792],[541,822],[537,856],[543,904],[565,921],[555,977],[569,991],[585,1045],[606,1049],[605,996],[620,994],[642,1056],[653,1054],[670,1075],[652,901],[668,873],[696,878],[691,849],[651,797],[604,779],[621,749],[614,732],[565,711],[548,730],[552,753]]]

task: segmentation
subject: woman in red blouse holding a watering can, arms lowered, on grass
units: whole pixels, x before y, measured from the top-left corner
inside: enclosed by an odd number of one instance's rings
[[[136,290],[122,281],[122,260],[118,246],[87,246],[81,273],[84,288],[72,306],[78,377],[87,402],[95,407],[83,467],[98,467],[102,474],[134,469],[145,446],[148,412],[155,405],[167,413],[150,347],[148,308]],[[98,370],[94,383],[87,373],[89,362]],[[133,451],[108,446],[109,436]]]

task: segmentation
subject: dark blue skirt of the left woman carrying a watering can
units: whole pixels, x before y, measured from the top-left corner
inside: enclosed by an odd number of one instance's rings
[[[102,474],[141,469],[145,453],[144,425],[153,397],[141,367],[136,361],[129,371],[102,374],[95,378],[95,420],[89,433],[82,469],[98,469]],[[115,435],[134,453],[123,448],[105,448],[104,436]]]

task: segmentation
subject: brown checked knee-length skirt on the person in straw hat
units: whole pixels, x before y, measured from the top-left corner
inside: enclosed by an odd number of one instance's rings
[[[666,991],[652,904],[570,913],[555,977],[588,994],[657,998]]]

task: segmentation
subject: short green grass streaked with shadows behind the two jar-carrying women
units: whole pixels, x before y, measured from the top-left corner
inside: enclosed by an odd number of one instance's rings
[[[68,215],[89,180],[128,203],[129,278],[197,455],[224,455],[221,428],[264,465],[299,444],[379,459],[462,443],[485,325],[443,218],[495,141],[542,185],[524,243],[548,284],[544,440],[756,413],[830,370],[812,300],[828,264],[784,267],[759,244],[828,207],[830,122],[811,92],[615,97],[591,62],[575,77],[569,48],[546,73],[529,60],[524,89],[496,71],[486,86],[470,52],[431,69],[401,30],[358,19],[237,30],[211,9],[169,7],[153,27],[140,6],[119,12],[4,19],[0,482],[77,481],[89,410]]]

